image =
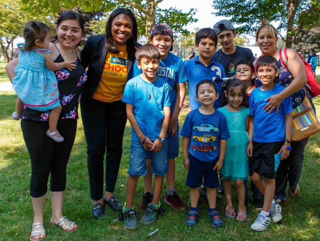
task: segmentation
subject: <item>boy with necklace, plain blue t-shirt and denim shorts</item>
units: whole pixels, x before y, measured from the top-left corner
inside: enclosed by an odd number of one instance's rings
[[[168,172],[166,141],[170,118],[169,85],[156,76],[159,50],[146,44],[137,50],[135,56],[142,74],[128,81],[122,98],[122,101],[127,103],[132,138],[126,203],[120,217],[124,227],[129,229],[138,226],[132,202],[139,177],[147,174],[148,154],[152,158],[151,172],[155,174],[155,189],[152,201],[140,222],[152,223],[164,211],[159,198],[164,175]]]

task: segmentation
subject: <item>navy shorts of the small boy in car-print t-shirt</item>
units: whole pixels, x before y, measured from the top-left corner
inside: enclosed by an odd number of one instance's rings
[[[202,162],[188,155],[190,162],[190,171],[188,172],[188,177],[186,185],[189,188],[198,188],[202,185],[202,177],[204,176],[204,186],[207,188],[217,188],[219,187],[219,179],[217,170],[213,170],[219,157],[214,159],[212,162]]]

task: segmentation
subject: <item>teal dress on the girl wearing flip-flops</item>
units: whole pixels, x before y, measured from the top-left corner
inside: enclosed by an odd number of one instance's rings
[[[246,153],[248,133],[245,131],[245,120],[249,115],[249,108],[242,107],[237,112],[231,112],[226,107],[218,108],[227,119],[231,138],[227,140],[221,175],[226,180],[246,180],[249,174],[248,156]]]

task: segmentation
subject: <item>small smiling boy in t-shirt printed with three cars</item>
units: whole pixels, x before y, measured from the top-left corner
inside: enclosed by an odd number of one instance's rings
[[[216,85],[211,80],[201,80],[196,85],[196,100],[200,108],[192,110],[181,128],[183,136],[183,165],[189,171],[186,185],[190,187],[190,212],[186,224],[194,226],[198,218],[199,189],[204,178],[209,203],[209,217],[213,227],[222,221],[216,211],[216,187],[230,138],[226,117],[214,108],[219,98]]]

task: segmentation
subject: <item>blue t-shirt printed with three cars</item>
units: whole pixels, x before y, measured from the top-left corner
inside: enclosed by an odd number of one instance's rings
[[[203,162],[212,162],[218,157],[219,140],[230,138],[226,117],[220,111],[204,115],[199,108],[187,115],[180,135],[190,138],[189,153]]]

